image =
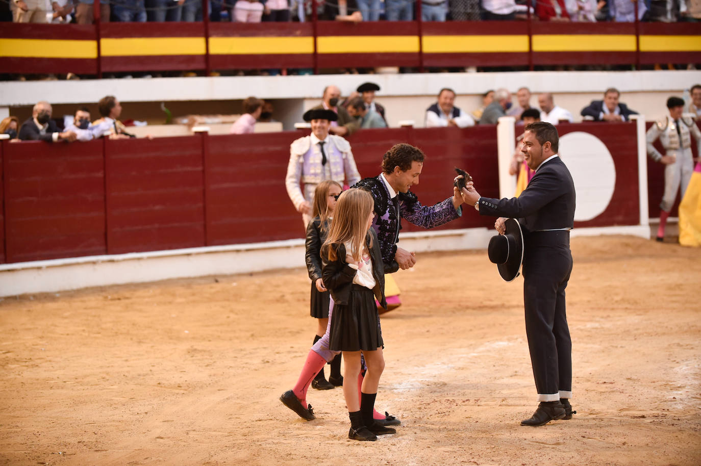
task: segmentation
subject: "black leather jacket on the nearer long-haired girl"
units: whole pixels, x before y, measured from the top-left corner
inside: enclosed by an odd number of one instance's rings
[[[373,228],[368,230],[367,236],[365,237],[366,246],[371,239],[372,247],[368,247],[368,250],[372,257],[372,275],[375,278],[375,287],[372,289],[372,292],[375,294],[381,306],[386,309],[384,265],[382,262],[380,245],[377,240],[377,233],[375,233]],[[348,296],[351,294],[353,277],[355,277],[357,270],[348,266],[346,262],[346,247],[344,245],[334,245],[334,247],[337,247],[337,259],[335,261],[328,260],[327,247],[329,246],[325,245],[325,247],[322,247],[321,252],[324,286],[329,289],[334,303],[348,304]]]

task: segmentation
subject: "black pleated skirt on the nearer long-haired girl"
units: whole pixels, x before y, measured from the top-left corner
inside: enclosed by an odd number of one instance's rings
[[[374,351],[382,345],[375,295],[371,289],[353,285],[348,304],[334,303],[329,349]]]

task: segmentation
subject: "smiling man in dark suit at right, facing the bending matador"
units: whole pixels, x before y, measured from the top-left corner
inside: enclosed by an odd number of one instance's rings
[[[494,226],[504,233],[503,217],[519,219],[524,231],[524,308],[526,336],[538,409],[522,425],[570,419],[572,343],[565,314],[565,288],[572,271],[569,231],[574,224],[575,191],[571,174],[557,155],[557,130],[550,123],[526,125],[522,153],[536,174],[518,198],[482,198],[468,182],[463,200],[480,215],[502,217]]]

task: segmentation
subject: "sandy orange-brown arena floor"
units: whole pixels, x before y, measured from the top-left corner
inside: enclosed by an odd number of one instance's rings
[[[4,299],[0,462],[701,464],[701,249],[576,238],[573,256],[573,420],[519,425],[522,279],[484,251],[418,254],[382,318],[395,435],[348,440],[340,389],[310,390],[312,422],[278,401],[313,337],[298,268]]]

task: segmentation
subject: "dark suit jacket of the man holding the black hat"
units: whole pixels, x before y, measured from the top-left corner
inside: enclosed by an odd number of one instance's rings
[[[559,157],[538,167],[517,198],[479,198],[479,214],[519,219],[526,233],[572,228],[576,203],[574,182]]]

